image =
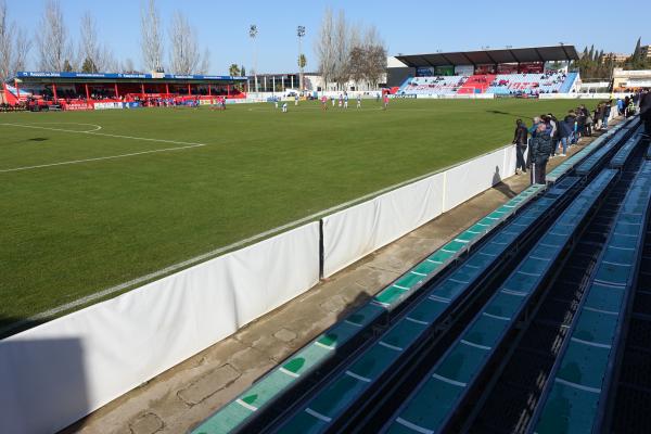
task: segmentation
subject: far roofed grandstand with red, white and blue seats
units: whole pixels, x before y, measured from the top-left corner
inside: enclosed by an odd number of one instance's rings
[[[398,95],[570,93],[579,78],[578,73],[567,71],[567,63],[578,59],[572,46],[396,59],[411,72],[398,87]]]

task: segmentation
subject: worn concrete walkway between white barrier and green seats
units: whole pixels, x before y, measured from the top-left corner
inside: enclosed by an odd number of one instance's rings
[[[582,148],[572,146],[569,154]],[[562,159],[550,159],[548,171]],[[191,430],[339,318],[528,184],[528,174],[505,180],[64,432],[153,434]]]

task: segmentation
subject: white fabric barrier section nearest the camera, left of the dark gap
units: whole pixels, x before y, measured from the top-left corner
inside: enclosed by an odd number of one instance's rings
[[[0,433],[53,433],[314,286],[314,222],[0,341]]]

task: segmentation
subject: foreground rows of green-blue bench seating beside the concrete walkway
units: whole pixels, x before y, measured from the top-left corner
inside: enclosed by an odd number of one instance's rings
[[[193,433],[644,431],[651,149],[639,119],[547,181],[433,252]]]

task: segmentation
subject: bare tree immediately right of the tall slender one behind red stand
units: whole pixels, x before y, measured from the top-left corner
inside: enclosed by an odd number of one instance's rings
[[[169,28],[169,60],[175,74],[192,74],[199,65],[199,47],[196,31],[190,26],[188,18],[181,11],[176,11],[171,17]]]

